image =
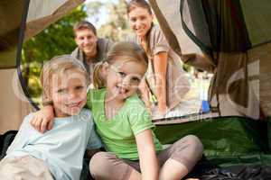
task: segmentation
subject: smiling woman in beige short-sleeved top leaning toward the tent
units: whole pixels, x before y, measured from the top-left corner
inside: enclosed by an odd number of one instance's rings
[[[145,103],[151,105],[149,94],[153,94],[159,112],[154,116],[163,116],[180,105],[183,95],[190,89],[189,81],[182,70],[181,59],[170,48],[160,28],[154,25],[150,5],[145,0],[132,0],[127,14],[130,27],[135,32],[132,41],[143,47],[149,57],[141,89]]]

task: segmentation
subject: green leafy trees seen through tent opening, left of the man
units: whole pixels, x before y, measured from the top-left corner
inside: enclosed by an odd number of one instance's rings
[[[33,97],[39,96],[42,92],[39,76],[43,62],[57,55],[70,54],[75,49],[72,26],[86,17],[84,6],[81,5],[23,43],[23,77]]]

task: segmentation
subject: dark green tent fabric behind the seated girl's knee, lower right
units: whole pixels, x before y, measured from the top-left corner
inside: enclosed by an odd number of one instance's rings
[[[217,165],[271,163],[268,154],[266,121],[232,116],[202,119],[179,124],[156,124],[155,134],[171,144],[188,134],[201,139],[204,154]]]

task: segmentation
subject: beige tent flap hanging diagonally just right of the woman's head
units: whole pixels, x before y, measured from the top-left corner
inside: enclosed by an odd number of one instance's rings
[[[213,72],[215,64],[182,30],[182,20],[179,11],[180,1],[171,4],[166,1],[149,0],[154,14],[160,23],[164,36],[172,49],[179,54],[184,63],[194,67]],[[182,49],[181,49],[182,47]]]

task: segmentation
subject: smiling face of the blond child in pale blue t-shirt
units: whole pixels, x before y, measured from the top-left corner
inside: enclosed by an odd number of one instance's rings
[[[57,117],[79,114],[87,102],[87,79],[78,69],[51,77],[51,99]]]

